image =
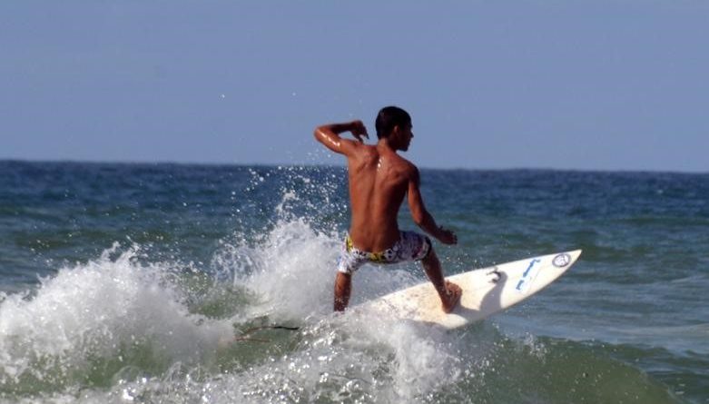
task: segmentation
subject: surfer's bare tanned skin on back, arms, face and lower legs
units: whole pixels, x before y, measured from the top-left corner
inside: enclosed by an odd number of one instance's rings
[[[409,150],[411,123],[394,126],[389,136],[375,145],[364,143],[369,138],[361,121],[331,123],[315,129],[315,138],[335,153],[347,157],[350,182],[350,238],[360,251],[385,251],[399,240],[397,216],[406,197],[413,221],[430,236],[444,244],[456,244],[454,232],[436,224],[426,210],[419,190],[419,169],[397,152]],[[355,140],[343,139],[350,132]],[[438,291],[442,309],[450,312],[458,304],[461,290],[445,281],[436,252],[422,261],[428,279]],[[350,302],[351,274],[338,272],[335,279],[334,309],[345,310]]]

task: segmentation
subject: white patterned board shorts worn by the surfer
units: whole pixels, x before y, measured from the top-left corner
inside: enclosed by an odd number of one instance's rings
[[[350,235],[345,243],[338,261],[338,271],[352,273],[367,262],[389,264],[404,261],[419,261],[428,256],[431,251],[431,240],[418,232],[399,232],[399,241],[391,248],[381,252],[361,251],[352,245]]]

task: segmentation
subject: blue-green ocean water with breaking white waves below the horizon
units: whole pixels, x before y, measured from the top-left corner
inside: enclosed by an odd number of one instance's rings
[[[422,170],[448,273],[584,250],[442,331],[331,313],[345,174],[0,162],[0,402],[709,402],[709,175]]]

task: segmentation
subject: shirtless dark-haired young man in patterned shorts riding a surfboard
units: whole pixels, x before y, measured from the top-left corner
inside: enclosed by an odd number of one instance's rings
[[[409,210],[419,227],[444,244],[458,242],[456,234],[438,227],[428,213],[419,191],[419,170],[399,156],[409,150],[411,117],[396,106],[382,108],[377,115],[376,145],[364,143],[367,128],[361,121],[332,123],[315,129],[315,138],[335,153],[347,157],[352,218],[350,234],[338,263],[335,279],[335,310],[350,302],[352,273],[366,262],[395,263],[421,261],[428,279],[438,291],[443,311],[450,312],[460,300],[461,290],[445,281],[440,261],[428,237],[399,231],[397,215],[407,196]],[[350,132],[357,141],[340,138]]]

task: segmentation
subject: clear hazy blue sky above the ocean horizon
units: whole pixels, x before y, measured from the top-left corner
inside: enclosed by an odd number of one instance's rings
[[[0,2],[0,159],[709,172],[709,2]]]

